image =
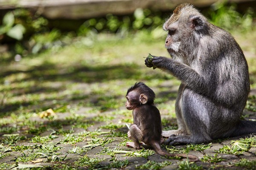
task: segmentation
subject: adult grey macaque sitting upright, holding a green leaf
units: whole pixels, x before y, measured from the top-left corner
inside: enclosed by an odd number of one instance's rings
[[[248,66],[234,38],[209,23],[188,3],[164,23],[172,58],[145,60],[181,81],[175,104],[178,130],[163,131],[166,144],[200,144],[256,133],[256,122],[241,120],[250,91]]]

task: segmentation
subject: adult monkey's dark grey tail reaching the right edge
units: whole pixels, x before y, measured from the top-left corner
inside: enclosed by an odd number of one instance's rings
[[[231,136],[256,133],[256,121],[240,120]]]

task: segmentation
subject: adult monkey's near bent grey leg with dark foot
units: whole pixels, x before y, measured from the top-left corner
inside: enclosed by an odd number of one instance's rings
[[[210,100],[184,89],[182,96],[183,120],[188,128],[189,135],[171,136],[165,144],[200,144],[210,142],[211,117],[214,106]]]

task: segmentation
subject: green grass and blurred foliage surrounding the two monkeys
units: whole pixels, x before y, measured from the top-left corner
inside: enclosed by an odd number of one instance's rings
[[[230,31],[244,50],[252,93],[243,118],[254,115],[255,119],[255,14],[250,8],[240,14],[236,5],[224,4],[216,4],[203,12],[212,23]],[[25,9],[7,13],[0,26],[0,41],[8,42],[9,49],[0,56],[0,160],[20,152],[22,154],[9,162],[11,166],[43,159],[43,162],[54,163],[55,169],[103,168],[99,166],[103,159],[84,155],[93,147],[102,146],[100,154],[113,158],[106,168],[127,166],[128,161],[116,161],[113,150],[105,145],[117,137],[123,137],[118,144],[125,145],[125,124],[132,122],[131,112],[124,107],[125,93],[138,81],[156,92],[155,102],[164,130],[177,128],[174,103],[180,82],[157,69],[146,68],[143,58],[148,53],[169,55],[163,45],[166,32],[162,29],[168,16],[169,13],[137,9],[132,16],[108,14],[86,20],[74,31],[63,31],[50,28],[47,19]],[[84,141],[86,147],[79,147]],[[246,147],[241,147],[244,142]],[[255,147],[253,142],[252,136],[233,142],[230,145],[233,147],[223,147],[218,153],[239,155]],[[61,154],[63,147],[59,144],[71,144],[73,149],[67,153],[79,153],[81,158],[72,164],[63,164],[67,157]],[[186,147],[203,151],[210,146]],[[186,148],[176,151],[185,152]],[[137,153],[145,158],[152,154],[151,150]],[[223,160],[218,155],[206,155],[201,161]],[[167,165],[168,162],[149,161],[137,168],[158,169]],[[254,165],[255,161],[248,160],[233,164],[249,168]],[[8,166],[0,164],[1,168]],[[186,161],[182,161],[179,168],[201,169]]]

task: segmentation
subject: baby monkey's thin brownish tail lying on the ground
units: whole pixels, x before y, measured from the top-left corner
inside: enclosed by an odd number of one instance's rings
[[[188,158],[189,161],[193,161],[193,162],[199,161],[198,157],[195,155],[183,154],[183,153],[167,153],[162,150],[160,144],[158,144],[157,142],[152,142],[151,146],[154,148],[154,150],[156,151],[157,154],[162,155],[162,156],[170,156],[170,157],[180,156],[183,158]]]

